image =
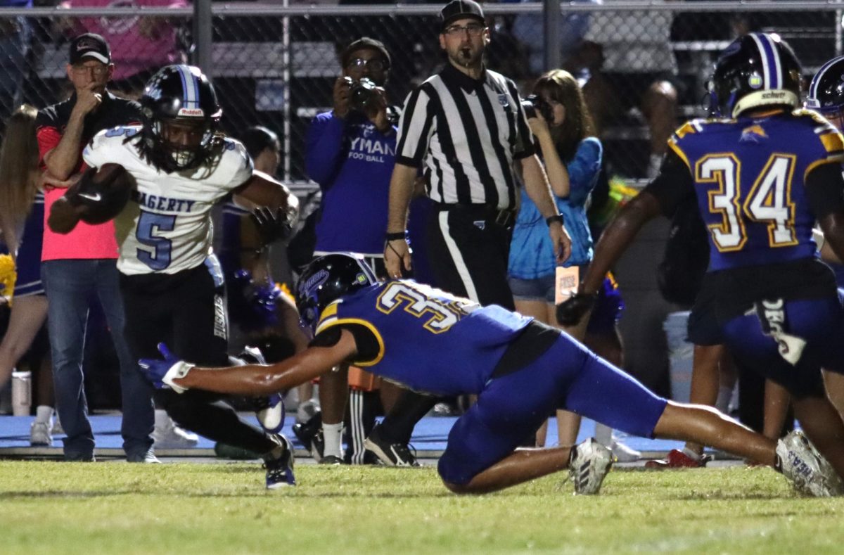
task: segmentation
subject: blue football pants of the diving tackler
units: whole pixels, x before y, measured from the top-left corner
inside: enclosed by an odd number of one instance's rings
[[[627,434],[652,437],[667,402],[561,334],[533,364],[490,380],[448,434],[440,476],[448,483],[470,482],[510,455],[558,407]]]

